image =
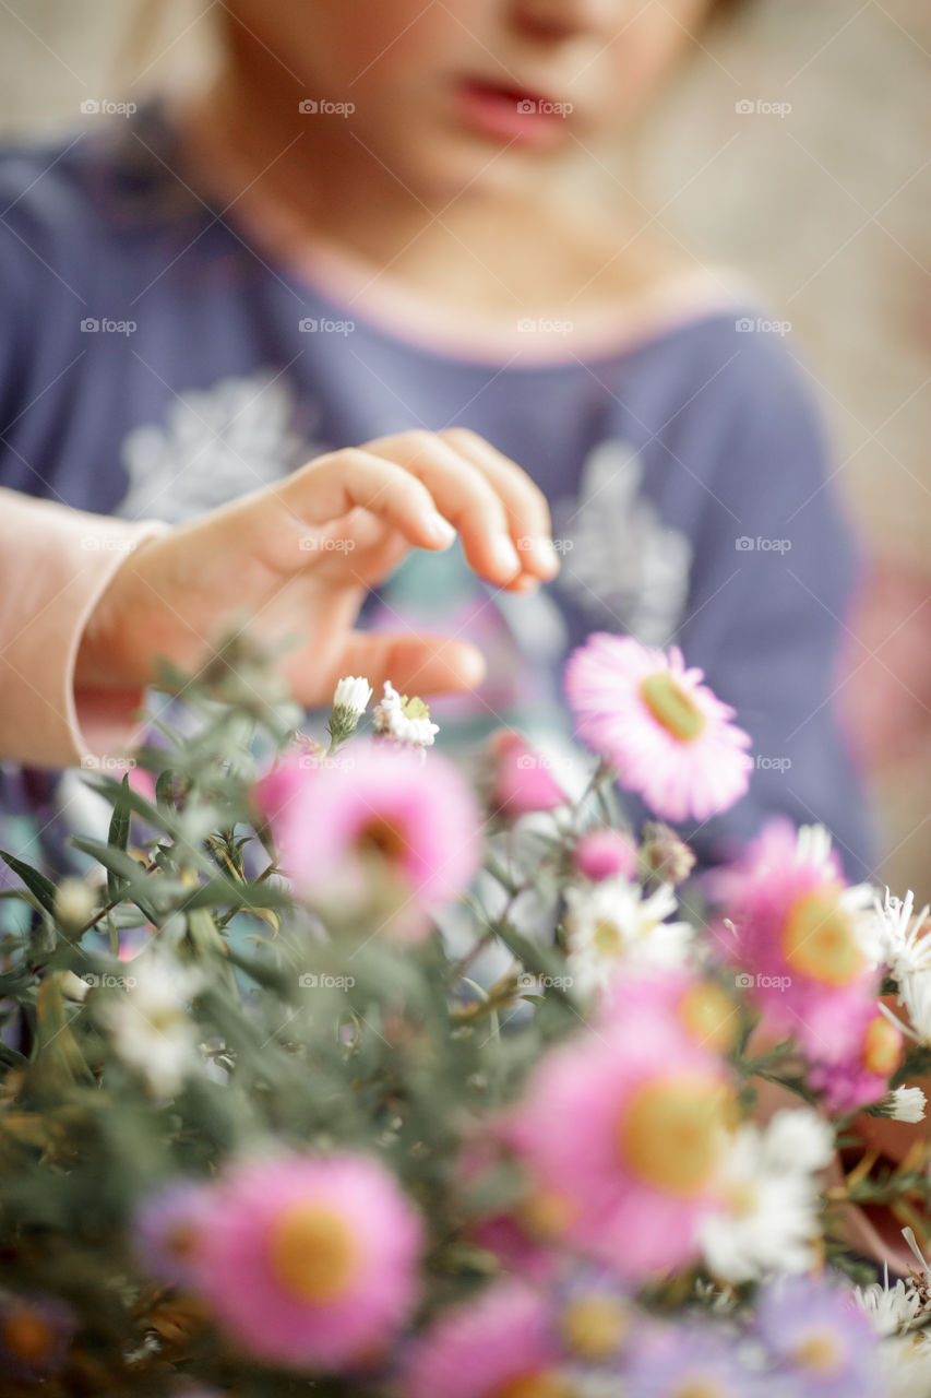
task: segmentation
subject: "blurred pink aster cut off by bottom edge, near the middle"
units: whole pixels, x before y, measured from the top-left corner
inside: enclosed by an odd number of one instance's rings
[[[552,1310],[517,1282],[442,1316],[414,1348],[404,1398],[556,1394],[559,1348]]]

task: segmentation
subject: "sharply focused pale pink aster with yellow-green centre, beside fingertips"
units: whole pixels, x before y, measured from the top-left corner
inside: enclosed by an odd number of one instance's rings
[[[566,667],[579,735],[616,769],[621,786],[668,821],[705,821],[749,786],[751,740],[702,679],[675,646],[667,656],[605,632]]]

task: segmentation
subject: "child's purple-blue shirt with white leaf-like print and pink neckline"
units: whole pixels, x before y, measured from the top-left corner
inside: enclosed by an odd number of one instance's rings
[[[419,554],[370,600],[370,625],[470,635],[489,658],[477,698],[436,706],[440,741],[568,731],[562,665],[593,630],[677,642],[753,738],[749,795],[682,826],[700,857],[780,811],[822,821],[863,875],[832,706],[856,551],[791,341],[721,296],[596,355],[454,354],[275,263],[178,168],[158,108],[0,155],[0,484],[180,520],[322,450],[472,428],[545,491],[563,570],[506,597],[457,549]],[[52,783],[25,783],[4,769],[7,822],[42,823]],[[35,856],[24,830],[14,847]]]

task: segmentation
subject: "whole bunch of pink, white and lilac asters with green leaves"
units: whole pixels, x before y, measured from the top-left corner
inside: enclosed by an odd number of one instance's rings
[[[171,685],[85,875],[4,856],[4,1394],[931,1392],[927,909],[781,821],[699,899],[663,822],[751,765],[700,671],[575,653],[575,798],[390,685],[326,745],[242,649]]]

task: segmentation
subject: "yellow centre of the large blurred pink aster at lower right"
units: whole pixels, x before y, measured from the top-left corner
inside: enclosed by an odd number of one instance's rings
[[[618,1123],[621,1163],[667,1194],[700,1194],[717,1169],[726,1110],[726,1088],[703,1074],[646,1082]]]

